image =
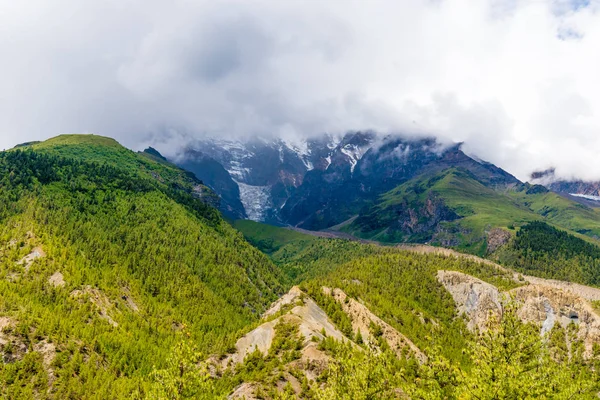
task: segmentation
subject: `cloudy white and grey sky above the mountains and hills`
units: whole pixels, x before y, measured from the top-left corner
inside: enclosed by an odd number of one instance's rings
[[[600,179],[600,0],[0,0],[0,149],[374,129]]]

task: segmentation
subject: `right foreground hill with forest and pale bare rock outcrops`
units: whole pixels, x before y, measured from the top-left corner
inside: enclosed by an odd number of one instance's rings
[[[582,365],[594,365],[596,288],[516,274],[442,248],[308,239],[256,223],[240,228],[251,241],[265,243],[267,232],[278,238],[271,258],[300,284],[236,343],[232,360],[243,379],[231,398],[595,395],[588,367],[577,372],[552,360],[578,354]]]

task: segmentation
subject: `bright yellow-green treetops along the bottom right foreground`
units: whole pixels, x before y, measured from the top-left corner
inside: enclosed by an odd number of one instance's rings
[[[434,354],[415,371],[389,352],[357,351],[337,345],[326,385],[316,399],[594,399],[596,375],[577,354],[553,357],[556,343],[544,345],[537,328],[523,324],[509,308],[501,321],[469,343],[473,365],[461,370]],[[564,345],[564,341],[560,342]],[[577,346],[577,342],[573,342]]]

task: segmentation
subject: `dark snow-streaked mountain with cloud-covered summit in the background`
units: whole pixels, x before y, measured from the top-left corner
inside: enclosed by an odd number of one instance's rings
[[[286,140],[204,139],[178,164],[222,197],[230,218],[323,229],[356,215],[382,193],[427,170],[458,166],[490,185],[519,183],[466,156],[460,145],[373,132]],[[487,182],[486,181],[486,182]]]

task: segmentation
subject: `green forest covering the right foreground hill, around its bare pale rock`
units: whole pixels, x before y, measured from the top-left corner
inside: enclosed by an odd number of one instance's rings
[[[566,330],[556,325],[548,341],[542,341],[539,326],[522,323],[517,310],[509,305],[501,320],[489,322],[489,330],[467,329],[466,318],[459,316],[452,297],[437,279],[438,271],[462,271],[503,291],[526,284],[490,263],[303,237],[297,232],[292,236],[286,229],[260,229],[255,223],[238,226],[251,241],[253,237],[264,241],[265,232],[271,232],[274,238],[289,238],[271,258],[358,346],[357,350],[354,345],[324,340],[319,349],[333,358],[321,377],[325,385],[306,381],[300,392],[290,386],[288,397],[265,389],[272,388],[273,383],[264,371],[262,375],[248,374],[249,370],[264,368],[255,358],[262,360],[262,356],[253,355],[239,370],[245,371],[241,375],[245,381],[258,382],[265,398],[389,399],[408,395],[413,399],[591,399],[599,389],[592,372],[598,365],[598,354],[592,359],[583,358],[575,324]],[[340,305],[323,287],[341,289],[351,302],[366,306],[422,349],[428,361],[419,364],[406,352],[398,358],[394,355],[397,349],[386,347],[380,328],[370,325],[370,335],[378,343],[374,350],[344,311],[348,300]],[[489,301],[470,293],[471,307]],[[383,350],[379,347],[382,345]],[[565,357],[570,351],[572,356]],[[269,353],[264,360],[269,362],[273,357]],[[303,379],[301,370],[295,374]]]

